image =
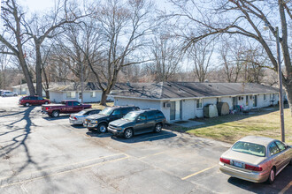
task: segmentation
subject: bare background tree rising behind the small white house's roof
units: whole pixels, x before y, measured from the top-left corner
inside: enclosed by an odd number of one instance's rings
[[[96,69],[100,59],[99,31],[93,20],[88,20],[79,25],[69,25],[65,28],[65,34],[57,37],[58,60],[65,63],[78,81],[81,81],[81,68],[84,80],[89,78],[91,69],[89,64]],[[96,70],[97,71],[97,70]]]

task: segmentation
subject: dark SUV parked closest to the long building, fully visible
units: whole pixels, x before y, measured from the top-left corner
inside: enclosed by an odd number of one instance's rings
[[[132,138],[134,135],[146,132],[160,132],[165,124],[165,116],[157,109],[133,111],[122,119],[111,122],[108,128],[115,136]]]

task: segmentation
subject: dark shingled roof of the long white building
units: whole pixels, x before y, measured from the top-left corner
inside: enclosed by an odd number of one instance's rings
[[[144,99],[184,99],[233,96],[252,93],[277,93],[272,86],[250,83],[159,82],[118,84],[112,96]]]

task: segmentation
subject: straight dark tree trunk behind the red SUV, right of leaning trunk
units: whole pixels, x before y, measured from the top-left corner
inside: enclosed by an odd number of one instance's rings
[[[42,56],[41,44],[35,42],[35,77],[36,77],[36,94],[42,97]]]

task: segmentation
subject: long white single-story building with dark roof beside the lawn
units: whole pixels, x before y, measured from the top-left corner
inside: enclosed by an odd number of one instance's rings
[[[167,121],[204,116],[204,106],[227,102],[230,109],[263,108],[278,103],[278,89],[259,84],[160,82],[120,84],[114,105],[158,108]]]

